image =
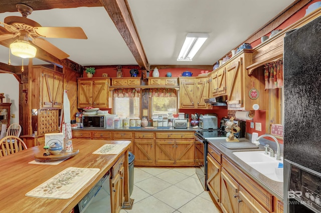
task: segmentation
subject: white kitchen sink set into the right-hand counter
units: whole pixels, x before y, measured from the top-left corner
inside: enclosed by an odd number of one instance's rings
[[[283,167],[278,168],[279,163],[283,163],[283,157],[276,160],[264,151],[234,151],[233,154],[266,177],[283,182]]]

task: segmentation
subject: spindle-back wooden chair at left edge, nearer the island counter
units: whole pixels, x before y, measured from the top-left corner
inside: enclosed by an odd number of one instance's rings
[[[9,135],[0,140],[0,157],[27,149],[26,143],[19,137]]]

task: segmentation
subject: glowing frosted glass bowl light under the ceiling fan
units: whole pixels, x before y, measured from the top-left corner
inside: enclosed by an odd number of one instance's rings
[[[36,56],[37,48],[27,40],[15,40],[10,44],[11,53],[22,58],[32,58]]]

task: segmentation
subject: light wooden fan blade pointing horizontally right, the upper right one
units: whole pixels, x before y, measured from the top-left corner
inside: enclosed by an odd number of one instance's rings
[[[87,39],[84,30],[78,26],[41,26],[34,27],[34,31],[43,37]]]

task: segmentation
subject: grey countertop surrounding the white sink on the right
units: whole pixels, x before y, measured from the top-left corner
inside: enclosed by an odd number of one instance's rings
[[[246,138],[239,138],[240,141],[249,141]],[[234,162],[244,173],[255,180],[264,189],[270,192],[272,195],[276,196],[278,199],[283,200],[283,182],[278,182],[271,180],[270,178],[259,173],[257,170],[243,162],[237,156],[233,154],[234,151],[254,151],[254,150],[264,150],[262,145],[256,149],[229,149],[221,145],[220,142],[225,142],[225,137],[208,139],[209,143],[216,147],[225,157]]]

